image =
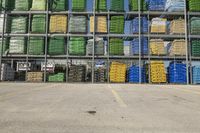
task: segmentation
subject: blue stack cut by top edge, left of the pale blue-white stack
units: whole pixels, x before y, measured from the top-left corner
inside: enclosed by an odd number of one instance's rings
[[[166,0],[148,0],[149,11],[164,11]]]

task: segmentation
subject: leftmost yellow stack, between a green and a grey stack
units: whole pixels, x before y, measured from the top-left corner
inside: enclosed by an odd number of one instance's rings
[[[67,16],[52,15],[50,17],[50,32],[51,33],[67,33]]]

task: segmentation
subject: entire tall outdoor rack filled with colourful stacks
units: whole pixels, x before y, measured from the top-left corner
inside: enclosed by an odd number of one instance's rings
[[[2,82],[200,84],[198,0],[1,0]]]

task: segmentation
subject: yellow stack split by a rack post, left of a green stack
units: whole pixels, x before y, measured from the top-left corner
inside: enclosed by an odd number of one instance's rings
[[[98,33],[107,33],[107,17],[106,16],[96,16],[96,30]],[[90,32],[94,32],[94,16],[90,17]]]

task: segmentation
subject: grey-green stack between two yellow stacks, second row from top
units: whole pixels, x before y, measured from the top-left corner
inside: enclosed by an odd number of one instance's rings
[[[69,32],[86,33],[87,32],[86,16],[71,16],[69,21]]]

